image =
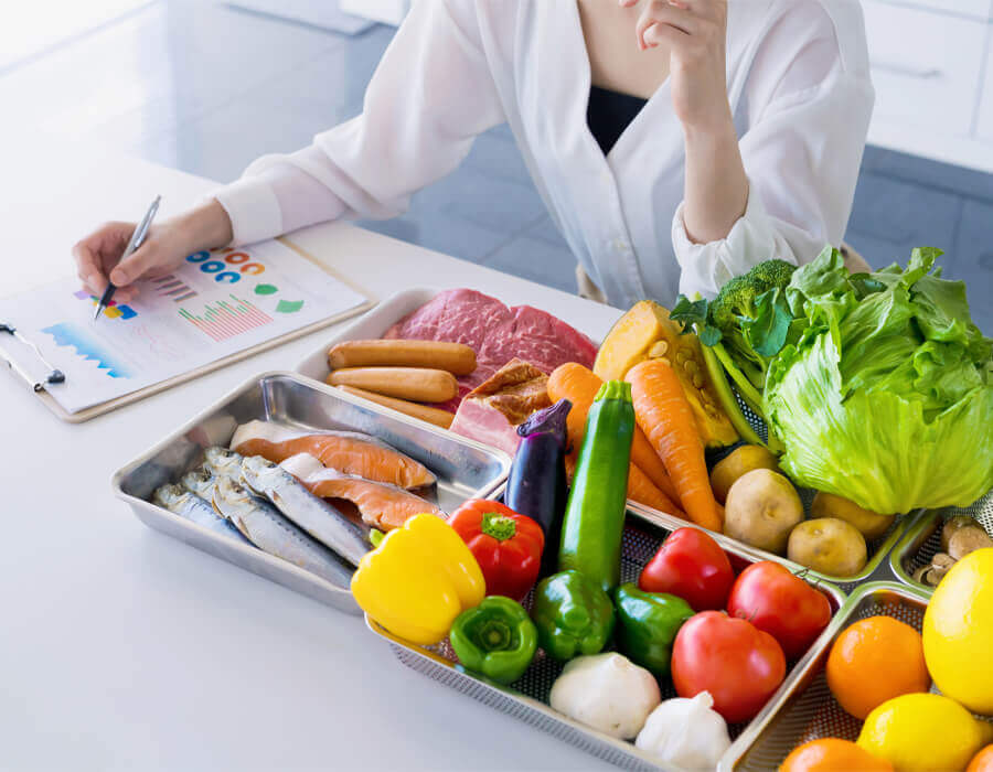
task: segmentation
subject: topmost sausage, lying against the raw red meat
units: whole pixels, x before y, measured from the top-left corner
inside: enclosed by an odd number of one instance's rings
[[[476,369],[476,352],[461,343],[440,341],[345,341],[328,352],[331,369],[342,367],[430,367],[452,375]]]

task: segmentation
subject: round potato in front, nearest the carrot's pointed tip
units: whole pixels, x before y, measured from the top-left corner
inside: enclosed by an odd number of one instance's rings
[[[727,492],[724,533],[745,544],[782,555],[803,504],[793,484],[778,472],[754,469]]]

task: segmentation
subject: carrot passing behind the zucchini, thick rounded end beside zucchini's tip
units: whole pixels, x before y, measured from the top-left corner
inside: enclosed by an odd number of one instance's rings
[[[575,362],[566,363],[548,376],[548,398],[553,403],[559,399],[568,399],[573,403],[573,409],[569,410],[567,419],[569,442],[573,448],[583,444],[583,437],[586,433],[586,414],[592,405],[594,397],[604,382],[592,371],[587,369]],[[631,463],[639,468],[640,471],[649,479],[652,485],[674,503],[679,508],[679,493],[675,485],[665,471],[662,459],[652,449],[651,443],[641,429],[634,429],[634,439],[631,441]]]

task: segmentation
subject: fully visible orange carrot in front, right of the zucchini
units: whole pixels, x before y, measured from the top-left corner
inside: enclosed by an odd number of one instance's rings
[[[672,365],[648,360],[628,371],[624,379],[631,384],[638,426],[665,464],[690,519],[719,533],[723,517],[711,490],[703,442]]]

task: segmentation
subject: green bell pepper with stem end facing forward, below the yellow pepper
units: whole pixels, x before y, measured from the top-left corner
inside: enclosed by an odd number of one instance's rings
[[[503,596],[484,598],[459,614],[448,640],[466,669],[500,684],[524,675],[537,651],[534,622],[524,607]]]

